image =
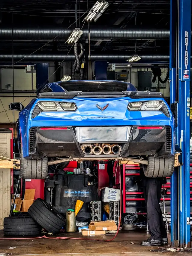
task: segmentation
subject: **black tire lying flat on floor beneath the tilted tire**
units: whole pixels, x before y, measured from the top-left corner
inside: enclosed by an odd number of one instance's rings
[[[35,220],[31,217],[5,217],[4,218],[5,236],[35,236],[41,232]]]

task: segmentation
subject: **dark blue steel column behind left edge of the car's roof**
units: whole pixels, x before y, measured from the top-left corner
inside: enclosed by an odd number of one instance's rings
[[[41,90],[43,85],[49,83],[49,63],[37,63],[36,65],[37,77],[37,93]]]

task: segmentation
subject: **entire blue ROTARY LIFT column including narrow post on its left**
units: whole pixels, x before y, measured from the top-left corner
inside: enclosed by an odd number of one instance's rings
[[[181,167],[171,177],[172,246],[190,247],[190,39],[191,0],[170,1],[170,101],[178,107],[176,144]]]

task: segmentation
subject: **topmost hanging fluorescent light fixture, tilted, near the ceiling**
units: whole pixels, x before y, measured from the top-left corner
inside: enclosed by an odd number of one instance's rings
[[[86,21],[91,20],[98,20],[98,18],[101,16],[101,14],[107,9],[109,3],[107,1],[97,1],[95,5],[91,8],[91,10],[88,12],[87,16],[85,17]]]

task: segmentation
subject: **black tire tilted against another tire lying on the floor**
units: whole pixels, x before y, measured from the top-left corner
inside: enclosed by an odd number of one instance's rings
[[[58,233],[65,225],[63,216],[41,198],[35,200],[28,210],[29,215],[50,233]]]

